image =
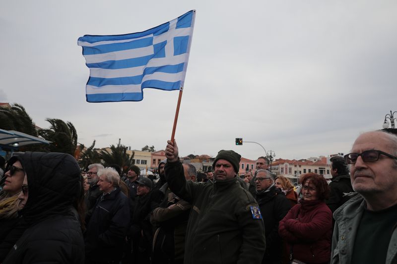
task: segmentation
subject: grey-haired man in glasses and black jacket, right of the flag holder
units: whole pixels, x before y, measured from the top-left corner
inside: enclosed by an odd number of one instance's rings
[[[255,199],[261,209],[265,225],[266,251],[262,263],[278,264],[282,258],[282,240],[278,235],[278,222],[291,209],[284,193],[274,185],[273,174],[265,169],[255,172]]]

